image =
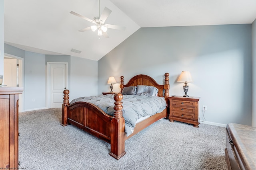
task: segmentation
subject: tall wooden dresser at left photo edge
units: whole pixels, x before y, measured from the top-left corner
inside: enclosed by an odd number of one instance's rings
[[[18,98],[22,87],[0,87],[0,168],[18,169]]]

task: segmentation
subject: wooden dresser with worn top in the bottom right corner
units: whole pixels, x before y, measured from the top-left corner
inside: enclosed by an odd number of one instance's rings
[[[256,127],[228,123],[225,157],[229,170],[256,170]]]

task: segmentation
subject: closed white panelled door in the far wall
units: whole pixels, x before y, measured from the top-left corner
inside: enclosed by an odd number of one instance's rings
[[[63,90],[67,87],[67,63],[47,63],[49,107],[60,108]]]

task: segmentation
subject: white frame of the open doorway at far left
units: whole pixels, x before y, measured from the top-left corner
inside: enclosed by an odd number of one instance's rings
[[[23,87],[23,92],[22,94],[19,94],[19,113],[24,112],[24,58],[22,57],[18,57],[16,55],[11,55],[8,53],[4,53],[4,57],[8,57],[8,58],[13,58],[13,59],[18,59],[21,62],[21,69],[19,69],[19,85],[20,87]]]

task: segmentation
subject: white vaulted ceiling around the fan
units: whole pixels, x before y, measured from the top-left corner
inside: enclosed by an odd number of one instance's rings
[[[92,25],[70,14],[93,20],[98,0],[5,0],[5,43],[42,54],[72,55],[98,61],[140,27],[252,23],[256,0],[101,0],[112,10],[106,23],[125,26],[108,29],[109,38],[91,30]],[[82,51],[77,54],[71,49]]]

